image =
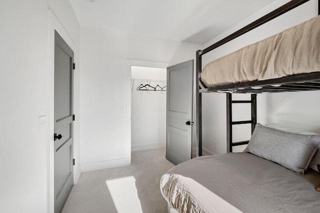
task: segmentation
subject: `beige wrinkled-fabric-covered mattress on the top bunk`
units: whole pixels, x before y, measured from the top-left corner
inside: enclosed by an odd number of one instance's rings
[[[206,87],[320,71],[320,16],[208,63]]]

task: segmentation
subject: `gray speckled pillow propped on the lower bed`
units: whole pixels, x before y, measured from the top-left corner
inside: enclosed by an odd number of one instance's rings
[[[283,132],[256,124],[248,146],[243,152],[249,152],[304,174],[318,150],[319,143],[320,136]]]

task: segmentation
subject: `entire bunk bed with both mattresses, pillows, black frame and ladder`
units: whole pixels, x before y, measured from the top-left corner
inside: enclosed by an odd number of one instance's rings
[[[161,177],[160,190],[170,208],[196,213],[320,211],[316,190],[320,186],[320,136],[263,126],[256,119],[256,94],[320,90],[320,16],[214,60],[203,70],[201,64],[203,54],[307,1],[291,0],[196,52],[199,157]],[[320,14],[320,0],[318,5]],[[300,39],[305,36],[306,40]],[[303,57],[298,57],[301,52]],[[251,60],[253,65],[248,63]],[[240,71],[235,74],[234,70]],[[226,154],[202,156],[201,95],[205,92],[226,94]],[[251,100],[234,101],[233,93],[249,93]],[[232,121],[232,104],[236,103],[251,105],[250,120]],[[239,124],[251,124],[249,141],[232,142],[232,125]],[[246,144],[244,152],[232,153],[232,147]]]

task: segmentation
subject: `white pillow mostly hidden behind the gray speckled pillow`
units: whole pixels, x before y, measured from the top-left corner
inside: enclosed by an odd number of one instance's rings
[[[302,130],[302,129],[294,129],[294,128],[290,128],[290,127],[280,127],[280,126],[277,126],[274,124],[267,124],[265,126],[273,128],[273,129],[281,130],[284,132],[295,133],[295,134],[320,135],[320,133],[316,133],[316,132],[310,132],[310,131],[306,131],[306,130]],[[319,151],[317,152],[317,154],[314,156],[313,160],[309,164],[309,168],[311,168],[317,172],[320,172],[320,146],[319,146]]]

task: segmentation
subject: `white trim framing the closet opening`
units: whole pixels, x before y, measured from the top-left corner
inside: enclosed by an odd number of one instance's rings
[[[126,59],[125,145],[127,147],[126,156],[129,156],[130,163],[131,163],[131,67],[141,66],[141,67],[152,67],[152,68],[166,68],[168,64],[169,63]]]

